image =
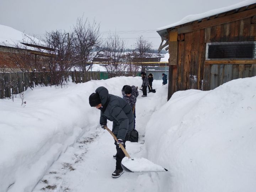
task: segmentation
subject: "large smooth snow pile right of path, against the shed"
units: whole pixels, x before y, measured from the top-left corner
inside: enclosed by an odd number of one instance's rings
[[[148,159],[170,171],[152,175],[160,191],[255,191],[255,117],[256,77],[176,92],[145,135]]]

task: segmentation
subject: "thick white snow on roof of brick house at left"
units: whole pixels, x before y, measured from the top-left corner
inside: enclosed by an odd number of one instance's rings
[[[0,32],[0,46],[16,47],[16,44],[18,44],[18,46],[25,48],[26,46],[21,43],[24,42],[28,44],[34,44],[31,39],[34,42],[39,43],[39,39],[31,37],[21,31],[15,30],[14,28],[5,25],[0,25]],[[28,49],[34,50],[32,47]]]

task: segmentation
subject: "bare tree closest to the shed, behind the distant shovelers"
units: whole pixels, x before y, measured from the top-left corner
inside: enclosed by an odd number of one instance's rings
[[[147,65],[142,64],[148,58],[153,56],[152,43],[140,36],[134,44],[134,63],[141,66],[141,70],[145,71]]]

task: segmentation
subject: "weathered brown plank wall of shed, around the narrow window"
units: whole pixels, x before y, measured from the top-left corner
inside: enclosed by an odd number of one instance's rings
[[[233,79],[255,76],[254,63],[205,64],[205,54],[208,42],[256,41],[256,16],[183,35],[184,40],[177,41],[177,68],[169,68],[168,98],[175,91],[210,90]]]

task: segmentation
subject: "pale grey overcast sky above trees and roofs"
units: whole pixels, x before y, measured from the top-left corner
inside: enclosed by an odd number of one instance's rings
[[[242,0],[0,0],[0,24],[40,37],[46,31],[69,31],[84,14],[100,23],[103,38],[116,31],[131,48],[142,35],[156,49],[161,43],[157,28],[238,2]]]

